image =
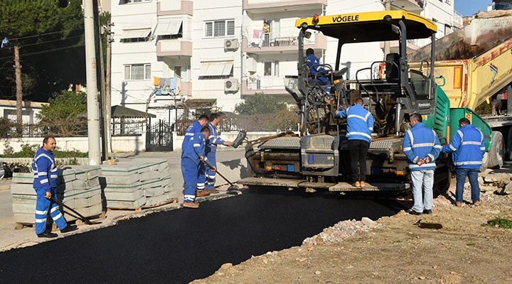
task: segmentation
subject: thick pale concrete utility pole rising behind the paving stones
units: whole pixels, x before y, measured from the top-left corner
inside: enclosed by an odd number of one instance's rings
[[[97,92],[95,50],[95,0],[84,1],[85,69],[87,74],[87,133],[89,136],[89,165],[100,165],[100,116]]]

